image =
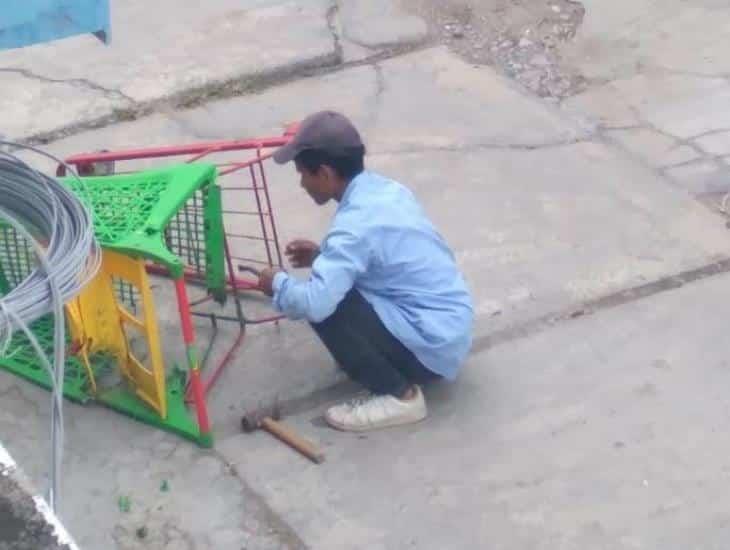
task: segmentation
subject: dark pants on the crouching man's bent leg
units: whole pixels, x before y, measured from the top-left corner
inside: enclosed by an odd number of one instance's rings
[[[440,378],[388,331],[357,290],[312,328],[348,376],[375,394],[401,397],[412,384]]]

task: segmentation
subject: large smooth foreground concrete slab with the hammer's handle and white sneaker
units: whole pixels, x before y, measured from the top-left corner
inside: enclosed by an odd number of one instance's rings
[[[473,357],[423,424],[367,435],[289,419],[224,455],[318,549],[721,548],[730,475],[727,275]],[[246,449],[245,460],[236,456]],[[263,465],[263,466],[262,466]]]

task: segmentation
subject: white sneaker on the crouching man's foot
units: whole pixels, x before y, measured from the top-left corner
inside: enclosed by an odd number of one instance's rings
[[[402,400],[392,395],[366,395],[331,407],[324,415],[327,423],[338,430],[365,432],[412,424],[426,418],[426,400],[418,386],[416,396]]]

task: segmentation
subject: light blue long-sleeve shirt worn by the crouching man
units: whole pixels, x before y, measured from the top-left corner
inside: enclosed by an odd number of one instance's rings
[[[472,343],[467,285],[413,194],[372,172],[347,186],[309,279],[274,277],[274,306],[317,323],[353,287],[424,366],[456,377]]]

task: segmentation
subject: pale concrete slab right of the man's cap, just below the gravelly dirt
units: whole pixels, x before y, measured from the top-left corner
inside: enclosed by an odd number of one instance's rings
[[[445,48],[393,59],[379,71],[371,152],[463,145],[529,148],[588,135],[576,121],[493,70],[468,64]]]

